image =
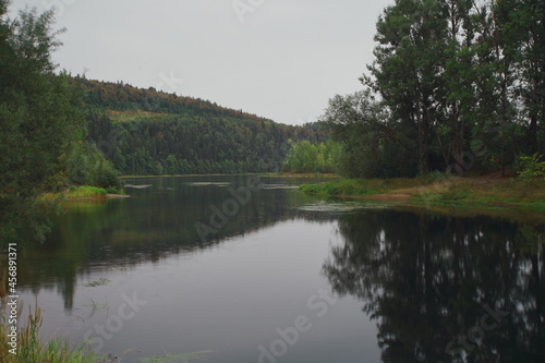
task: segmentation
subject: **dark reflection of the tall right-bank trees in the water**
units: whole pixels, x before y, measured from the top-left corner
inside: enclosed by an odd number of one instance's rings
[[[324,273],[364,302],[383,362],[544,362],[544,227],[399,210],[341,216]]]

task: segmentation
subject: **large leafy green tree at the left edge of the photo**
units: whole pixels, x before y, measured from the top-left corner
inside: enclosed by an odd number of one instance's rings
[[[0,240],[41,238],[47,213],[36,196],[53,186],[66,141],[80,137],[77,92],[55,73],[51,52],[60,32],[53,13],[25,10],[9,21],[0,0]]]

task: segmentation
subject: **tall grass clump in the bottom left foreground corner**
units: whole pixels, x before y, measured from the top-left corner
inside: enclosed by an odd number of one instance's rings
[[[43,318],[39,307],[28,314],[25,326],[19,326],[16,354],[10,353],[8,344],[9,326],[4,325],[5,317],[0,323],[0,362],[2,363],[94,363],[101,356],[93,353],[85,346],[71,348],[61,338],[48,341],[39,339],[39,329]]]

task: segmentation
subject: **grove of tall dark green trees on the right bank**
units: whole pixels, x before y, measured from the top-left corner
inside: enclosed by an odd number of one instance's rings
[[[545,153],[543,0],[396,0],[361,92],[323,120],[344,174],[506,171]]]

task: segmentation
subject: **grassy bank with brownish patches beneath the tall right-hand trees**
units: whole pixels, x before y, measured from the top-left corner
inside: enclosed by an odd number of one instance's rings
[[[306,194],[415,205],[523,207],[545,210],[545,181],[506,178],[341,179],[301,185]]]

